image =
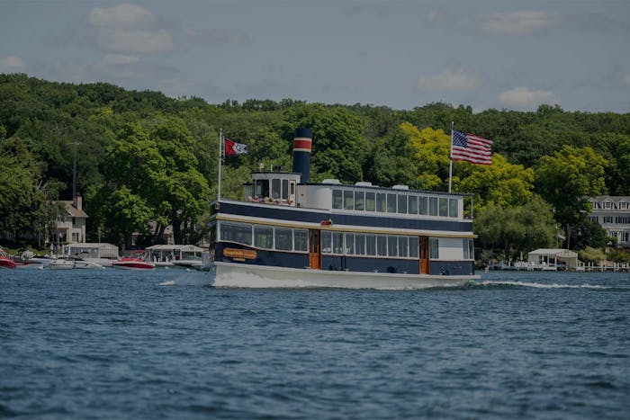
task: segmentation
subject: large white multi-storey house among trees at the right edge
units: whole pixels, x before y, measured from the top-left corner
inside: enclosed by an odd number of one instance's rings
[[[618,247],[630,247],[630,196],[598,195],[589,199],[589,219],[617,237]]]

